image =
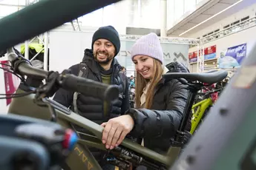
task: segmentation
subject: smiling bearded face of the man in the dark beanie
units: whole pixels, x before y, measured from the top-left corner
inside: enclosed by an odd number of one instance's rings
[[[115,55],[115,47],[106,39],[98,39],[93,44],[93,56],[99,64],[110,63]]]

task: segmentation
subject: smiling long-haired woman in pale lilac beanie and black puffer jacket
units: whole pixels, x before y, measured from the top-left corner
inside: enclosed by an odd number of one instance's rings
[[[162,65],[163,50],[156,34],[142,36],[131,49],[131,59],[137,70],[137,109],[129,109],[126,115],[102,123],[102,143],[106,149],[114,149],[131,132],[135,137],[143,137],[145,147],[166,152],[170,138],[180,126],[188,89],[177,79],[163,78],[168,70]]]

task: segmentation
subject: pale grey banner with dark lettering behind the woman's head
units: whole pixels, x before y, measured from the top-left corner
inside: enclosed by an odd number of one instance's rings
[[[131,61],[131,47],[134,45],[135,41],[122,41],[121,48],[116,59],[119,64],[124,66],[127,72],[134,72],[134,62]],[[161,43],[163,49],[163,65],[169,64],[173,61],[179,61],[188,67],[188,48],[186,44],[171,44],[171,43]]]

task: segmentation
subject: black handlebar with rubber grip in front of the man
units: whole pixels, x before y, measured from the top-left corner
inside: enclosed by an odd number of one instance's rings
[[[20,75],[27,75],[31,78],[50,81],[50,75],[53,72],[47,72],[43,69],[33,67],[27,59],[17,53],[13,48],[7,50],[7,58],[12,63],[14,72],[17,72]],[[62,72],[61,74],[59,74],[59,72],[54,73],[57,76],[55,82],[53,82],[54,87],[61,86],[68,91],[81,92],[83,95],[99,98],[102,101],[112,101],[119,96],[119,89],[114,85],[102,84],[87,78],[66,74],[65,72]]]

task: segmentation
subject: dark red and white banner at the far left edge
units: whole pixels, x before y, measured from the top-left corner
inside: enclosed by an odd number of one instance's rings
[[[7,65],[10,65],[9,61],[1,61],[1,67],[10,70],[10,67],[8,67]],[[5,93],[8,94],[7,96],[10,96],[14,92],[16,92],[16,89],[19,87],[20,79],[17,78],[16,75],[13,75],[11,72],[8,72],[7,70],[4,70],[4,85]],[[11,101],[11,98],[6,99],[6,106],[9,105]]]

